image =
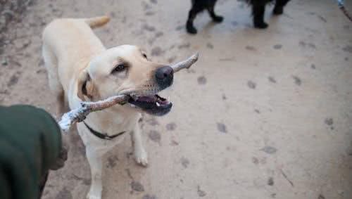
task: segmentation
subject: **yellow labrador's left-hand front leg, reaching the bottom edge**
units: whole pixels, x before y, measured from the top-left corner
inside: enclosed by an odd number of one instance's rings
[[[103,190],[101,183],[102,156],[89,147],[86,147],[86,155],[92,175],[92,184],[87,199],[101,199],[101,191]]]

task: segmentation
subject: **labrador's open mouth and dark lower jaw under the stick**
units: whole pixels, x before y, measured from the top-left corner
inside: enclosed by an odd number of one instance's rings
[[[142,108],[146,113],[151,115],[165,115],[172,108],[172,103],[158,95],[153,96],[132,96],[128,103]]]

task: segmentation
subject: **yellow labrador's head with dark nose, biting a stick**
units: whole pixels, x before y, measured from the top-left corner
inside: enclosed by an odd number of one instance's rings
[[[78,80],[78,97],[98,101],[118,94],[128,94],[128,105],[151,115],[165,115],[172,107],[158,92],[173,82],[168,65],[153,63],[137,46],[123,45],[94,57]]]

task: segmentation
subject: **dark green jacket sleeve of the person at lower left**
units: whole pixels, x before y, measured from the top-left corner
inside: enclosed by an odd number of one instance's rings
[[[49,113],[0,106],[0,198],[37,199],[39,181],[60,150],[61,131]]]

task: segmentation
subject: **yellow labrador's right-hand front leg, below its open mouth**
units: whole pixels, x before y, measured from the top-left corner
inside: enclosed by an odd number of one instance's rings
[[[137,123],[132,131],[132,145],[134,148],[134,158],[139,165],[146,167],[148,165],[148,155],[144,149],[141,129]]]

